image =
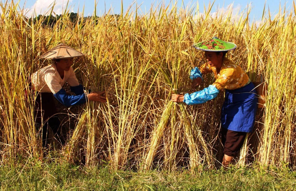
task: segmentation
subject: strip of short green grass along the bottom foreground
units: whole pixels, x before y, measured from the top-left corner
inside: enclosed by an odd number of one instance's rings
[[[21,159],[0,167],[1,190],[296,190],[296,172],[268,167],[167,172],[114,171]]]

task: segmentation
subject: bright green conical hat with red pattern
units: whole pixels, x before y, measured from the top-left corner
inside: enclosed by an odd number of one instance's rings
[[[210,40],[196,43],[193,45],[193,47],[204,51],[230,51],[237,48],[237,45],[214,37]]]

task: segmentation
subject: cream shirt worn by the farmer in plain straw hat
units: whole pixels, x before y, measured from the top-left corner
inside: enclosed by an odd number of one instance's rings
[[[57,72],[55,64],[41,68],[33,73],[31,81],[36,91],[52,92],[54,94],[59,92],[66,82],[68,82],[70,86],[79,85],[72,67],[70,67],[68,71],[64,71],[64,78],[62,79],[59,76],[59,72]]]

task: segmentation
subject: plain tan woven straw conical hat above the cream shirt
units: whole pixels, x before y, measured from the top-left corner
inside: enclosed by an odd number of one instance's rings
[[[81,52],[78,52],[67,46],[63,43],[60,43],[58,46],[52,48],[46,53],[42,54],[40,58],[44,59],[63,59],[63,58],[73,58],[78,56],[84,56]]]

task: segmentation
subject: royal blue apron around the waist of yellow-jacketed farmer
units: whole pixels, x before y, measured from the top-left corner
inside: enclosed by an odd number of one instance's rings
[[[252,82],[242,88],[225,90],[221,126],[232,131],[252,132],[257,103],[257,92]]]

